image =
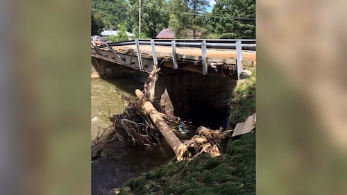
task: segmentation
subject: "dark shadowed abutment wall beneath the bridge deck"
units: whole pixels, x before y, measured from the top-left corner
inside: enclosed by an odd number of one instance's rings
[[[204,76],[189,71],[159,75],[155,85],[155,97],[167,90],[174,113],[194,124],[219,128],[227,120],[232,90],[237,82],[234,79]],[[170,70],[169,70],[170,71]],[[160,101],[157,100],[157,101]]]

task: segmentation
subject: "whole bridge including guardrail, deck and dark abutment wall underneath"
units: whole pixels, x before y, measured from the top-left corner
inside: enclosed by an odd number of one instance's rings
[[[101,77],[148,74],[160,67],[153,104],[158,110],[221,124],[237,80],[255,66],[255,40],[133,40],[92,44],[92,66]],[[195,118],[194,118],[195,117]]]

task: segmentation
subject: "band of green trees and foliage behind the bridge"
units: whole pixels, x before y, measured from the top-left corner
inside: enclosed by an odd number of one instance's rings
[[[154,38],[162,28],[178,38],[255,38],[255,0],[219,0],[210,13],[208,6],[207,0],[143,0],[138,35],[139,0],[92,0],[92,35],[126,24],[141,38]]]

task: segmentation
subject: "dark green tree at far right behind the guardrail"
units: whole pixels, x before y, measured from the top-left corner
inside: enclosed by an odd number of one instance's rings
[[[255,39],[255,0],[216,0],[210,22],[221,38]]]

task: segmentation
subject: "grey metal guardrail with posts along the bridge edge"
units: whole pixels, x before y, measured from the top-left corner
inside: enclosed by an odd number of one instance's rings
[[[184,47],[192,47],[201,49],[201,57],[202,57],[202,68],[203,75],[208,74],[208,63],[206,60],[206,49],[235,49],[237,53],[237,78],[241,74],[242,70],[242,50],[255,51],[256,50],[256,40],[160,40],[160,39],[151,39],[151,40],[132,40],[125,42],[113,42],[101,44],[100,46],[94,46],[94,49],[98,52],[101,48],[107,48],[112,53],[124,61],[121,56],[119,56],[112,46],[126,46],[126,45],[136,45],[137,51],[137,60],[139,64],[139,69],[143,70],[144,67],[142,65],[142,58],[140,54],[139,45],[151,45],[152,54],[153,54],[153,64],[158,65],[158,60],[155,56],[155,45],[158,46],[171,46],[172,52],[172,61],[174,69],[178,69],[178,62],[176,56],[176,46],[184,46]]]

